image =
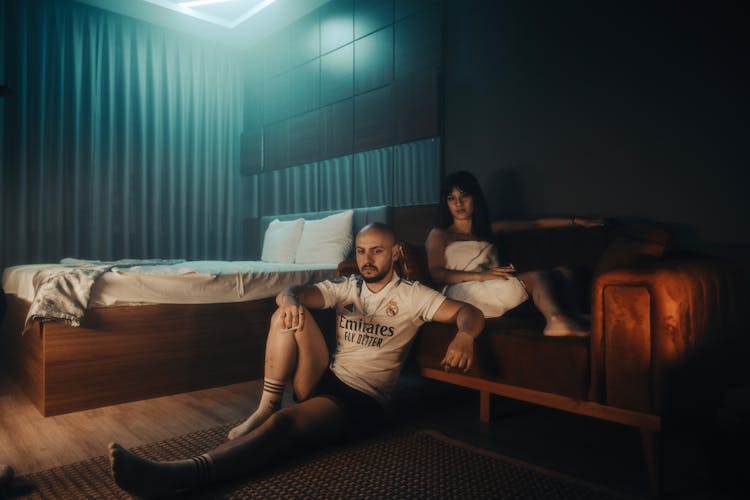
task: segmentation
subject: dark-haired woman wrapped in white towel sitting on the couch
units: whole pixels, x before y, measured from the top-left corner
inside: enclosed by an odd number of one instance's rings
[[[477,179],[469,172],[455,172],[443,182],[437,227],[430,231],[425,244],[430,275],[433,281],[445,285],[446,296],[476,306],[487,318],[502,316],[531,295],[547,321],[545,335],[587,335],[587,329],[565,314],[553,296],[550,272],[517,273],[512,263],[501,266],[492,241],[493,234],[509,231],[601,224],[600,220],[572,218],[497,221],[490,225],[487,202]]]

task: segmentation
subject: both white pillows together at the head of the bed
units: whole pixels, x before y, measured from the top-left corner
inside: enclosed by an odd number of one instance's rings
[[[353,216],[353,210],[345,210],[316,220],[275,219],[266,230],[261,260],[338,265],[352,248]]]

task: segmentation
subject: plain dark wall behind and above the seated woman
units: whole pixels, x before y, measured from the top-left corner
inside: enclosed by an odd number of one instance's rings
[[[738,7],[448,1],[445,169],[494,217],[667,224],[690,249],[750,250],[748,46]]]

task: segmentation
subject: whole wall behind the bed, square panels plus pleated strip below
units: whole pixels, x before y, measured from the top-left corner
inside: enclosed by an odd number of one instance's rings
[[[263,215],[436,201],[441,3],[331,0],[246,51],[247,258]]]

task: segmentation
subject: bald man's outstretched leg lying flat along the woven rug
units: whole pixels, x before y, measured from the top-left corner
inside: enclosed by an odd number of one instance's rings
[[[335,442],[344,436],[345,428],[346,418],[336,403],[313,397],[279,410],[237,439],[186,460],[147,460],[112,443],[110,468],[117,485],[131,494],[170,495],[247,476],[297,448]]]

